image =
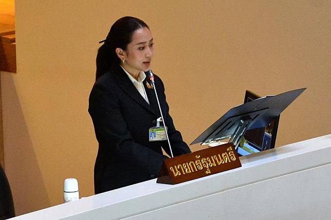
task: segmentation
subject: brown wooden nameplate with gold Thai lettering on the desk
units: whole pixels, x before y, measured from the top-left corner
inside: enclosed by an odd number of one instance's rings
[[[166,159],[156,183],[175,185],[241,167],[232,143]]]

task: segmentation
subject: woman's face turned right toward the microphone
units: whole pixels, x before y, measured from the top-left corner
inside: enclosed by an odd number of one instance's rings
[[[151,69],[153,51],[151,31],[146,27],[137,29],[132,35],[132,42],[123,51],[123,58],[125,58],[123,67],[130,73],[149,71]]]

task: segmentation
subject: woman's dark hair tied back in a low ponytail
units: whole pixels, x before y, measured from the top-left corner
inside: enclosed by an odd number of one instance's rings
[[[106,39],[101,41],[104,44],[98,50],[96,79],[108,71],[113,64],[119,64],[115,49],[126,50],[127,45],[132,41],[133,33],[143,27],[149,29],[148,25],[139,18],[130,16],[122,17],[112,25]]]

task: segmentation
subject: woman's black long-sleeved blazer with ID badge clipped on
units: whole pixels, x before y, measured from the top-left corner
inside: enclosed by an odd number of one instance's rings
[[[169,115],[169,106],[161,79],[155,75],[155,85],[174,156],[190,153]],[[160,117],[155,92],[143,85],[150,105],[140,95],[119,65],[101,75],[89,96],[88,112],[93,120],[99,150],[95,164],[95,193],[147,181],[158,176],[169,155],[167,141],[149,142],[149,128]]]

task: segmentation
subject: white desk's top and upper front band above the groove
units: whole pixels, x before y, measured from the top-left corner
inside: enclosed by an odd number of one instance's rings
[[[295,164],[291,163],[293,157],[296,157]],[[156,179],[152,179],[13,219],[88,219],[88,216],[96,216],[96,213],[107,219],[120,219],[265,179],[330,164],[331,134],[243,156],[240,159],[241,168],[186,183],[157,184]]]

